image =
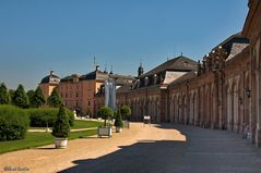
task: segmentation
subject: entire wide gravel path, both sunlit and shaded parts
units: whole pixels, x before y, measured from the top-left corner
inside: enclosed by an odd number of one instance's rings
[[[260,173],[261,152],[240,135],[162,124],[130,129],[111,138],[88,137],[0,155],[3,169],[49,173]]]

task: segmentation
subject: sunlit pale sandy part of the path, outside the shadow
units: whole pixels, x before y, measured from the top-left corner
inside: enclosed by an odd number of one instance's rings
[[[8,166],[19,169],[21,172],[58,172],[74,166],[74,160],[97,159],[138,143],[186,140],[186,137],[176,129],[156,126],[132,123],[130,129],[124,129],[120,134],[114,133],[111,138],[90,137],[70,140],[68,149],[54,149],[54,145],[49,145],[0,155],[0,171],[4,172],[4,168]]]

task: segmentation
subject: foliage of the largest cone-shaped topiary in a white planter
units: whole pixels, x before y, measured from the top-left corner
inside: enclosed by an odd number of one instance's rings
[[[67,111],[63,104],[60,106],[59,112],[57,114],[56,123],[52,127],[51,135],[55,137],[68,137],[70,134],[70,124],[67,115]]]

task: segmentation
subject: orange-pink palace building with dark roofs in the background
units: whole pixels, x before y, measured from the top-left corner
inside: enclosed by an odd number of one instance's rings
[[[105,79],[108,78],[114,78],[117,87],[132,84],[134,79],[132,76],[114,74],[112,71],[110,73],[102,72],[97,65],[96,70],[88,74],[72,74],[63,78],[50,71],[50,74],[41,79],[39,86],[46,98],[50,96],[54,88],[57,88],[68,109],[75,110],[78,114],[93,115],[95,110],[94,97],[99,92]]]

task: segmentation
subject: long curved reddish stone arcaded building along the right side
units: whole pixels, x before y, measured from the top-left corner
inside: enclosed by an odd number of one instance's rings
[[[249,0],[242,32],[213,48],[201,61],[183,55],[139,75],[117,90],[117,104],[132,109],[132,120],[151,115],[173,122],[251,134],[261,146],[261,0]],[[104,104],[104,95],[95,97]],[[96,109],[97,110],[97,109]]]

